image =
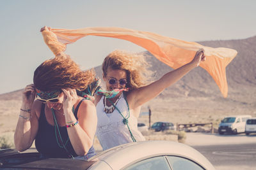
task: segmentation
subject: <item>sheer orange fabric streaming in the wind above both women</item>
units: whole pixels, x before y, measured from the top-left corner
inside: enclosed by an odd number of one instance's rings
[[[237,51],[230,48],[211,48],[195,42],[182,41],[154,34],[152,32],[136,31],[119,27],[86,27],[84,29],[52,29],[43,31],[45,43],[55,55],[65,51],[66,45],[76,42],[84,36],[104,36],[131,41],[152,53],[158,60],[173,69],[177,69],[190,62],[196,51],[204,48],[207,60],[200,62],[216,81],[223,97],[227,97],[228,85],[225,68],[237,55]]]

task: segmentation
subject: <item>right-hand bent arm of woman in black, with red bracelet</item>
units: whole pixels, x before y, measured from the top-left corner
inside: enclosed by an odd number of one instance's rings
[[[77,118],[72,113],[72,101],[76,101],[77,95],[74,89],[62,89],[67,99],[63,102],[63,110],[67,124],[76,124],[67,127],[70,142],[79,156],[88,153],[93,145],[93,138],[97,129],[97,113],[92,101],[85,100],[79,107]],[[70,122],[70,123],[69,123]]]

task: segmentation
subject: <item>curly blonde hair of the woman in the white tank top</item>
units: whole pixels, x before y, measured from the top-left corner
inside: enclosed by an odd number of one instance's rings
[[[145,85],[148,74],[147,66],[148,64],[145,62],[143,55],[115,50],[104,59],[102,71],[106,76],[109,68],[124,70],[127,74],[126,87],[132,90]]]

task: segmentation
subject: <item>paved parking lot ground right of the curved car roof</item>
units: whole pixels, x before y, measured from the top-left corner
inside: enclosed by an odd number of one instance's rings
[[[216,170],[256,169],[256,134],[186,133],[186,144],[210,160]]]

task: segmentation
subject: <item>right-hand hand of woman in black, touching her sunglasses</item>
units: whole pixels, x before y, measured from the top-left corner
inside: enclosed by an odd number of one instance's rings
[[[63,99],[63,111],[64,113],[68,110],[72,111],[72,107],[76,103],[78,97],[76,94],[76,89],[61,89],[64,93]]]

